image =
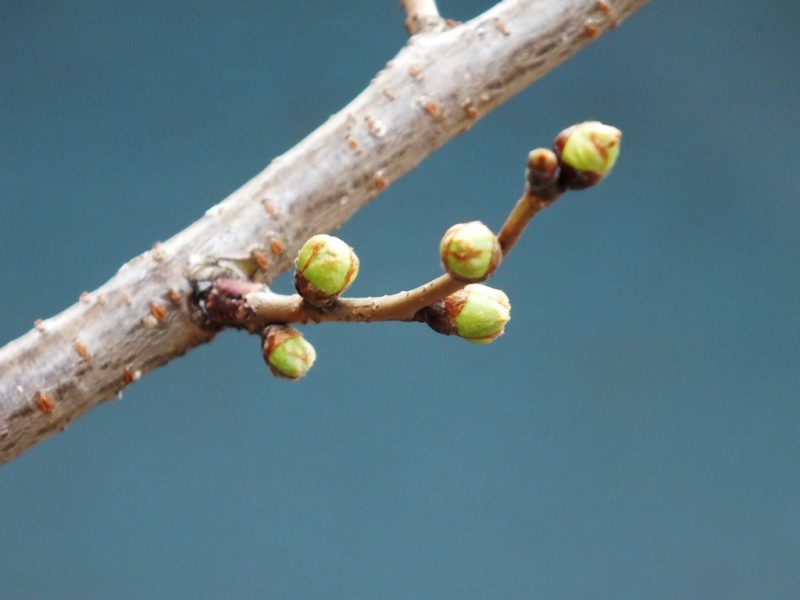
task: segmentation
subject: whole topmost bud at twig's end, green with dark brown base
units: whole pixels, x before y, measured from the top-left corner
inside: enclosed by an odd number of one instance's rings
[[[566,187],[587,188],[611,172],[621,139],[619,129],[599,121],[579,123],[559,133],[553,150],[561,159]]]

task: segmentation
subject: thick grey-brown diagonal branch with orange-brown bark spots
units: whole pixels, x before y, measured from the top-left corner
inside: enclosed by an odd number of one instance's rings
[[[213,338],[190,302],[192,265],[252,255],[254,279],[272,280],[308,237],[646,1],[504,0],[413,36],[350,104],[200,220],[0,349],[0,463]]]

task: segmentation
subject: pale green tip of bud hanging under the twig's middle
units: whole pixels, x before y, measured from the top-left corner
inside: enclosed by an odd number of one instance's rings
[[[488,344],[503,335],[511,319],[508,296],[479,283],[448,296],[445,309],[455,324],[455,333],[476,344]]]

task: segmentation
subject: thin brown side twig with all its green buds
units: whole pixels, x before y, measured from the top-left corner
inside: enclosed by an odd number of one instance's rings
[[[568,190],[596,184],[611,171],[620,139],[618,129],[588,121],[562,131],[552,149],[533,150],[524,191],[498,234],[480,221],[453,225],[439,246],[445,273],[408,291],[342,297],[358,275],[359,260],[345,242],[321,234],[310,238],[298,253],[298,295],[277,294],[245,279],[215,277],[194,281],[193,299],[210,327],[261,332],[267,365],[287,379],[302,377],[316,359],[314,348],[289,323],[425,322],[439,333],[488,344],[505,332],[511,303],[501,290],[479,282],[495,272],[543,208]]]

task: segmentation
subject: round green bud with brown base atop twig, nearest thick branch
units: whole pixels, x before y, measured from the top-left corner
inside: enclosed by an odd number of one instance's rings
[[[358,264],[358,256],[342,240],[332,235],[315,235],[297,255],[294,286],[303,298],[324,306],[355,281]]]

